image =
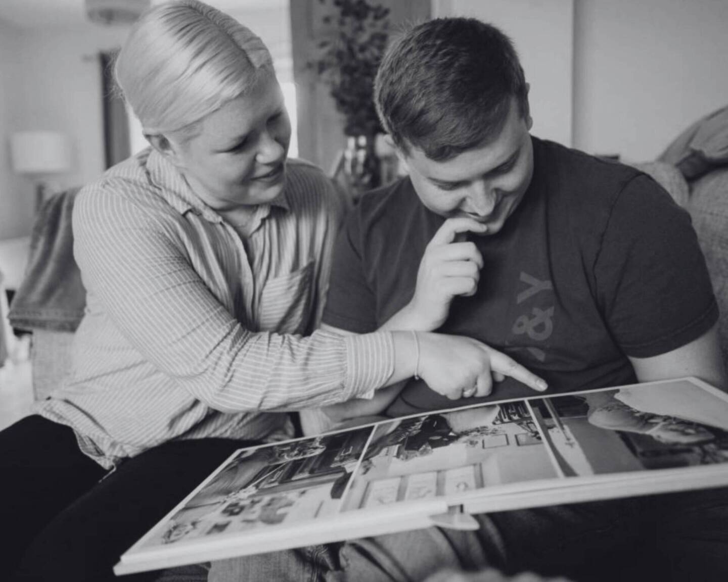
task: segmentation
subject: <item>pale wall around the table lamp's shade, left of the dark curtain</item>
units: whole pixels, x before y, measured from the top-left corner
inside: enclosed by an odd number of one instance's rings
[[[68,174],[50,180],[50,186],[59,190],[93,180],[104,164],[96,55],[118,47],[126,29],[83,25],[73,31],[36,31],[7,25],[1,32],[0,67],[12,64],[10,82],[3,77],[1,89],[7,105],[5,119],[0,118],[4,148],[14,131],[64,132],[73,143],[74,166]],[[7,161],[7,155],[3,159]],[[5,206],[0,213],[0,239],[28,234],[33,220],[33,183],[12,172],[8,178],[8,172],[2,170],[2,177],[12,181],[13,196],[0,196]]]

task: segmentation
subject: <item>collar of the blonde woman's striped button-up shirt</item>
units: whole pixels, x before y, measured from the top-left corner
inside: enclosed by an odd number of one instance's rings
[[[222,217],[215,210],[207,206],[197,194],[194,194],[194,191],[189,187],[187,180],[183,178],[179,170],[173,164],[167,162],[162,154],[159,154],[157,150],[151,147],[149,148],[149,156],[146,160],[146,168],[149,172],[151,182],[159,188],[159,194],[180,214],[191,211],[201,215],[202,218],[209,220],[211,223],[222,222]],[[279,207],[286,212],[290,210],[288,195],[286,194],[288,190],[287,186],[271,202],[258,205],[258,210],[261,210],[259,213],[261,219],[269,215],[270,207]]]

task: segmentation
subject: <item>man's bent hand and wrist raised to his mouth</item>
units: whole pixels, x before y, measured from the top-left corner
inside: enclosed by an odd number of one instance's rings
[[[437,330],[447,319],[453,298],[475,295],[483,257],[474,243],[459,239],[467,232],[485,234],[487,229],[472,218],[448,218],[424,250],[413,298],[385,327]]]

